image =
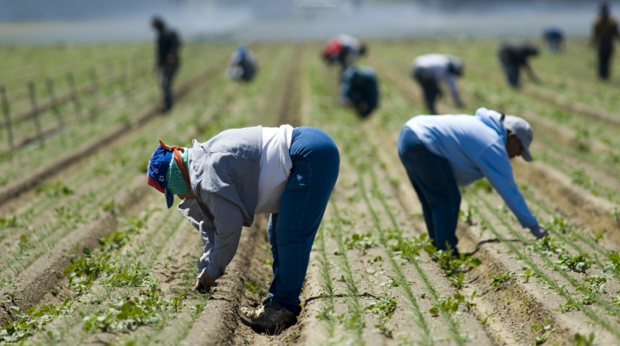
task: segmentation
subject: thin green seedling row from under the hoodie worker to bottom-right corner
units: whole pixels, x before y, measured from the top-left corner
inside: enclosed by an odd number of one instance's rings
[[[479,195],[477,193],[475,193],[475,196],[477,197],[477,199],[479,201],[483,201],[486,205],[486,208],[488,208],[489,210],[493,210],[493,207],[491,207],[490,205],[488,205],[488,202],[485,201],[484,199],[482,199],[481,197],[479,197]],[[512,244],[512,242],[510,242],[509,240],[505,239],[504,237],[502,237],[502,235],[499,234],[499,232],[497,230],[495,230],[495,227],[493,227],[493,224],[490,223],[490,221],[488,221],[488,219],[486,217],[484,217],[484,215],[481,214],[479,208],[475,205],[475,203],[468,203],[469,206],[471,206],[472,208],[474,208],[474,210],[477,212],[477,214],[481,217],[481,219],[483,221],[486,222],[486,225],[488,226],[488,230],[491,231],[491,233],[493,233],[493,235],[495,235],[495,237],[497,237],[497,239],[499,239],[504,245],[506,245],[508,248],[510,248],[510,250],[517,255],[517,257],[522,260],[523,262],[525,262],[525,264],[527,264],[529,266],[529,268],[531,268],[536,275],[538,275],[538,277],[540,277],[540,279],[542,279],[544,282],[547,283],[547,285],[553,289],[553,291],[556,291],[556,293],[558,293],[559,295],[562,295],[567,301],[572,301],[574,303],[574,306],[582,311],[583,313],[585,313],[585,316],[587,316],[588,318],[590,318],[593,322],[601,325],[601,327],[607,329],[608,331],[610,331],[611,334],[613,334],[614,336],[616,336],[617,338],[620,338],[620,329],[617,328],[617,326],[614,326],[610,323],[609,320],[607,320],[606,318],[601,318],[601,316],[599,315],[599,313],[596,313],[596,311],[590,309],[589,307],[586,307],[585,304],[582,304],[581,302],[579,302],[578,300],[574,300],[572,297],[572,294],[569,293],[569,291],[567,291],[567,289],[565,289],[564,286],[559,286],[558,282],[556,282],[556,280],[553,280],[551,277],[549,277],[549,275],[547,275],[547,273],[544,273],[544,271],[542,271],[537,264],[535,264],[530,257],[527,257],[526,255],[524,255],[521,251],[519,251],[519,249]],[[500,220],[502,220],[500,218]],[[515,232],[516,233],[516,232]]]

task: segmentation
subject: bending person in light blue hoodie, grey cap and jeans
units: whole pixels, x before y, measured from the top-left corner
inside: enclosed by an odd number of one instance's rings
[[[537,238],[547,235],[527,208],[513,177],[510,159],[532,161],[532,129],[522,118],[479,108],[475,116],[416,116],[398,138],[398,155],[422,203],[434,246],[457,251],[461,192],[486,177],[521,226]],[[458,252],[457,252],[458,253]]]

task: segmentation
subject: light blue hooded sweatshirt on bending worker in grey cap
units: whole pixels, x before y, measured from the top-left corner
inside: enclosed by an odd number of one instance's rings
[[[448,159],[459,185],[486,177],[523,227],[538,225],[517,188],[506,128],[497,111],[479,108],[475,116],[416,116],[405,124],[430,152]]]

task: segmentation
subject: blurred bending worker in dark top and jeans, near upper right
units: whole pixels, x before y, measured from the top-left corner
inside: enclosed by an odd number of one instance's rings
[[[502,67],[504,67],[504,73],[506,73],[510,86],[519,87],[521,67],[525,69],[533,82],[539,82],[538,77],[536,77],[528,64],[529,57],[535,55],[538,55],[538,47],[533,44],[504,42],[499,47],[499,61],[502,62]]]

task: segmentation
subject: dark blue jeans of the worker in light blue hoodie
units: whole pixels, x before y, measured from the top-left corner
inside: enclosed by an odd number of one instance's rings
[[[427,149],[416,133],[405,126],[398,137],[398,156],[422,203],[424,221],[434,246],[456,250],[461,192],[450,162]]]

